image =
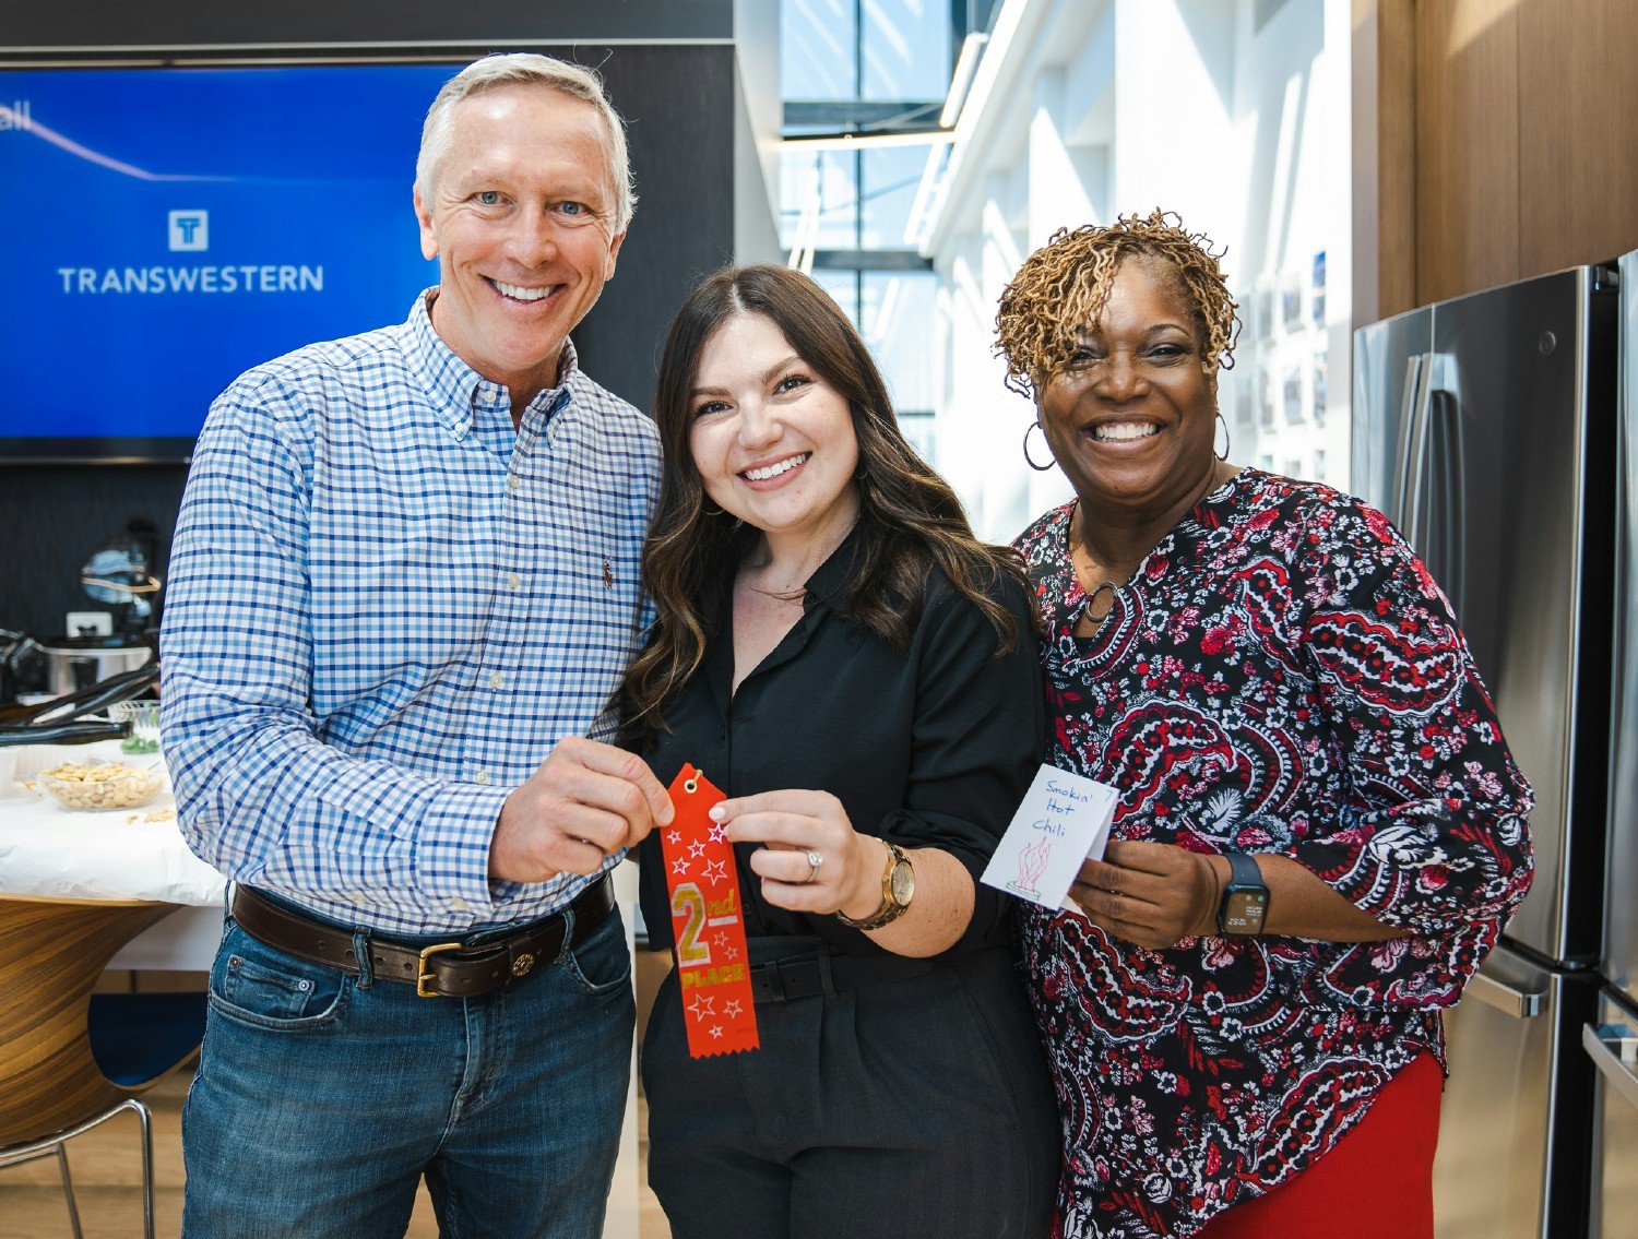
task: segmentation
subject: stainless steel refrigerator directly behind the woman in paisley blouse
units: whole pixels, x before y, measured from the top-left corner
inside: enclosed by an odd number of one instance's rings
[[[1440,1239],[1571,1239],[1595,1211],[1620,285],[1577,267],[1355,332],[1353,489],[1450,596],[1536,795],[1530,895],[1446,1016]]]

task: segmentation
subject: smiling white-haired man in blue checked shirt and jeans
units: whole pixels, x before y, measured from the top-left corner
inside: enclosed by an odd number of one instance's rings
[[[193,849],[236,887],[183,1111],[183,1232],[601,1232],[629,1082],[608,871],[670,820],[608,741],[652,422],[568,332],[632,213],[598,79],[495,56],[432,103],[410,319],[211,406],[161,637]]]

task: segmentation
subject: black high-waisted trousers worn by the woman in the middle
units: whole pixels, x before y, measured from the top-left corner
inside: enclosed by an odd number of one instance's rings
[[[675,972],[655,1000],[649,1183],[673,1239],[1045,1239],[1058,1111],[1004,951],[762,1003],[757,1025],[760,1049],[690,1059]]]

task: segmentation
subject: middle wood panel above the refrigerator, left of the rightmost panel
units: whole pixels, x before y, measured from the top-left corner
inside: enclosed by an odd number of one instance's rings
[[[1520,275],[1517,8],[1417,3],[1417,304]]]

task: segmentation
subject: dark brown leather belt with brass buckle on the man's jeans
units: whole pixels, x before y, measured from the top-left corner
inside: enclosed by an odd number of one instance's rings
[[[614,907],[614,884],[608,876],[586,887],[567,912],[573,912],[570,946],[580,946]],[[562,954],[567,912],[542,917],[509,938],[478,946],[432,943],[403,946],[375,935],[369,936],[370,967],[383,980],[414,985],[423,998],[475,998],[523,980],[537,964],[550,964]],[[359,975],[359,959],[352,935],[334,925],[305,917],[256,894],[234,887],[233,918],[247,935],[278,951]]]

